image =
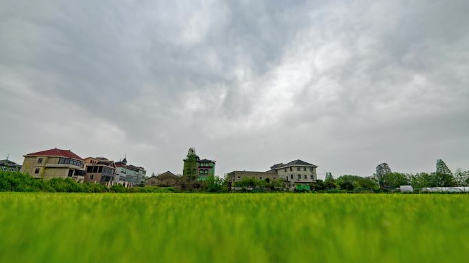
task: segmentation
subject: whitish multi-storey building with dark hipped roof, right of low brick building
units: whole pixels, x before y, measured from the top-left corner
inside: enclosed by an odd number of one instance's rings
[[[284,179],[290,188],[297,184],[309,184],[317,179],[317,165],[302,160],[294,160],[275,168],[278,178]]]

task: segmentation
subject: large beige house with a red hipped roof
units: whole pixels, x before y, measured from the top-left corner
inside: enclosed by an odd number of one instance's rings
[[[55,148],[23,156],[25,160],[20,171],[34,178],[70,177],[79,182],[84,181],[84,160],[70,150]]]

